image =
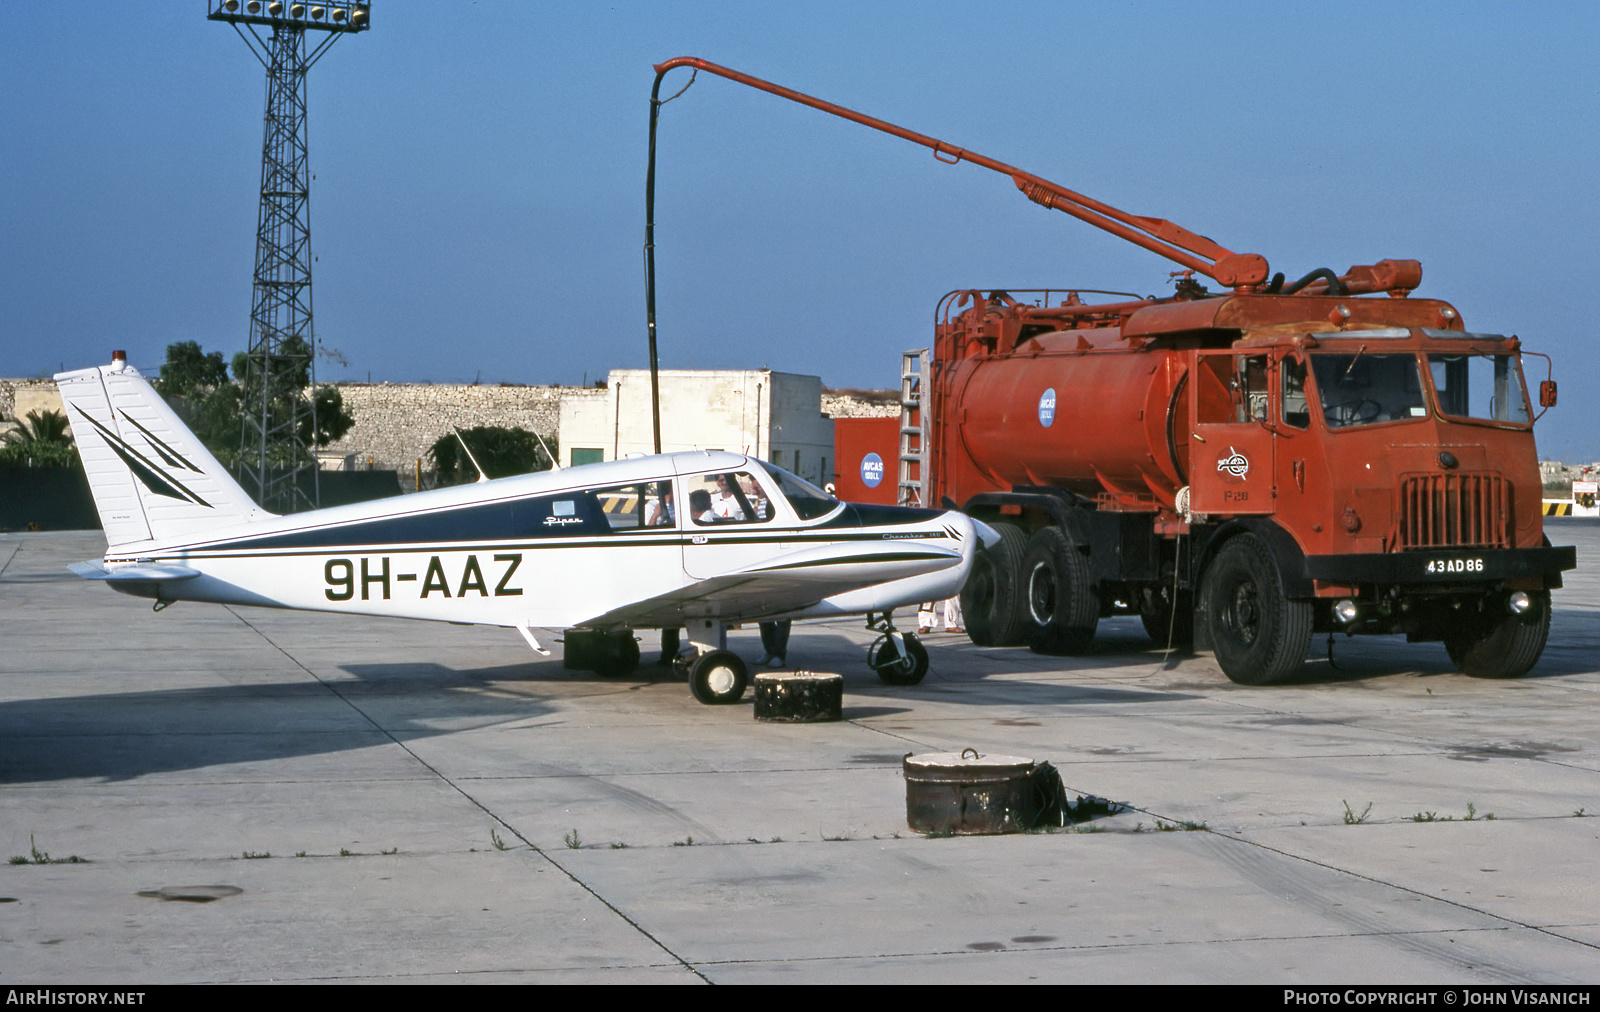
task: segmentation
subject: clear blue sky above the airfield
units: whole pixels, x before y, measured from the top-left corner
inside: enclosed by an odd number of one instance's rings
[[[0,375],[242,349],[261,66],[198,0],[0,2]],[[320,378],[645,365],[651,64],[693,54],[1290,277],[1421,259],[1418,295],[1555,360],[1541,455],[1600,458],[1597,43],[1579,3],[378,0],[310,75],[315,327],[350,362]],[[947,290],[1158,293],[1171,264],[702,75],[662,118],[658,269],[666,367],[893,386]]]

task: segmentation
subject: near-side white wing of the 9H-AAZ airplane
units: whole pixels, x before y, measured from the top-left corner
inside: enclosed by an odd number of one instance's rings
[[[915,541],[840,543],[784,552],[720,576],[576,623],[581,628],[670,628],[691,618],[750,621],[824,597],[958,565],[958,551]]]

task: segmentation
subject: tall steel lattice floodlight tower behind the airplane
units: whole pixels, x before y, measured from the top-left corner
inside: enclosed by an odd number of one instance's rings
[[[243,469],[246,487],[275,512],[315,508],[315,375],[310,325],[310,168],[306,157],[306,72],[341,35],[365,32],[370,0],[206,0],[206,19],[234,26],[267,69],[261,143],[261,211],[250,306]],[[262,37],[259,29],[270,29]],[[306,32],[326,32],[307,51]],[[301,476],[310,471],[310,495]]]

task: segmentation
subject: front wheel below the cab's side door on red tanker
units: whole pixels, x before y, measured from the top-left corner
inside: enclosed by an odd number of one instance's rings
[[[1283,597],[1272,552],[1256,536],[1222,546],[1206,572],[1205,602],[1216,661],[1230,681],[1270,685],[1306,663],[1312,604]]]

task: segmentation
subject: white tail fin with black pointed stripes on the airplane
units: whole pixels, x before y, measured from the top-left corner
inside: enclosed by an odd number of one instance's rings
[[[110,365],[58,373],[56,386],[110,546],[274,516],[256,506],[123,352],[114,352]]]

